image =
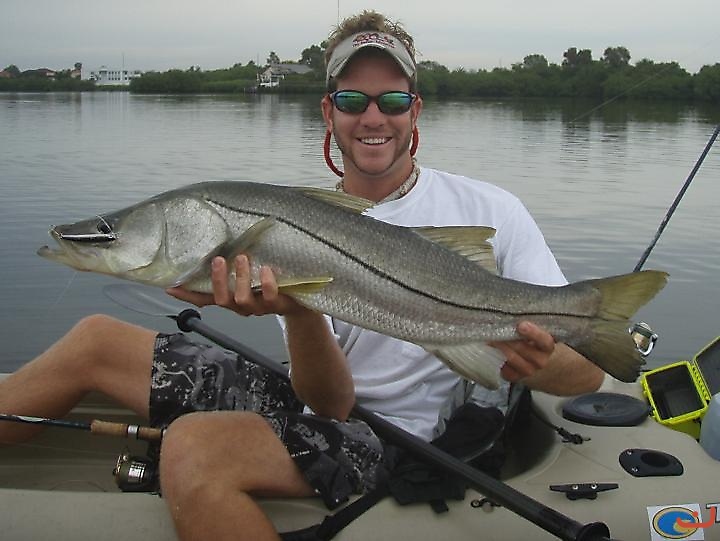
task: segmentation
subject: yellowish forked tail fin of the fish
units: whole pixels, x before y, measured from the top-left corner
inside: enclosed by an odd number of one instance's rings
[[[589,280],[602,296],[598,319],[590,324],[592,340],[572,347],[620,381],[635,381],[645,359],[630,335],[629,319],[665,286],[667,277],[648,270]]]

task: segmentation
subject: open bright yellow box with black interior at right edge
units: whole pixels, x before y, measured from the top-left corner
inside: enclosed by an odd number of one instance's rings
[[[698,439],[710,399],[720,392],[720,336],[691,361],[645,372],[640,383],[656,421]]]

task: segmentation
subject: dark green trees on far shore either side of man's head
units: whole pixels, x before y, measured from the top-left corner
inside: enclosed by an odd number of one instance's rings
[[[322,93],[325,86],[324,53],[326,43],[304,49],[297,61],[311,71],[288,74],[275,88],[258,87],[265,69],[280,63],[271,52],[266,64],[250,61],[230,68],[147,72],[130,84],[138,93],[239,93],[272,91],[282,93]],[[642,59],[630,63],[626,47],[607,47],[599,59],[589,49],[571,47],[558,64],[541,54],[530,54],[509,68],[491,70],[450,70],[434,61],[418,65],[418,90],[423,96],[440,98],[520,98],[573,97],[594,99],[665,99],[678,101],[720,101],[720,63],[705,65],[690,74],[677,62]],[[4,81],[7,81],[4,80]],[[3,90],[0,80],[0,90]]]

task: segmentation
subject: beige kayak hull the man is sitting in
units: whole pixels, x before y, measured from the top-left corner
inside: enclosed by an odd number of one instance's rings
[[[600,391],[643,400],[638,384],[610,377]],[[720,540],[720,462],[693,437],[649,416],[635,426],[569,420],[563,413],[569,400],[533,392],[536,415],[511,437],[505,483],[547,506],[551,517],[558,512],[582,524],[604,523],[613,539]],[[140,422],[97,395],[69,418]],[[555,427],[581,436],[582,443],[564,441]],[[48,428],[29,444],[0,449],[2,539],[176,539],[160,496],[122,492],[115,483],[118,456],[145,451],[144,442],[66,428]],[[448,500],[447,511],[437,513],[425,503],[400,505],[385,497],[335,539],[557,538],[495,503],[468,489],[464,499]],[[337,512],[315,498],[261,505],[280,532],[310,527]]]

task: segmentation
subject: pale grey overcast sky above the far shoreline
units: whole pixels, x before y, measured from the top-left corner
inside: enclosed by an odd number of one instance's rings
[[[418,60],[509,67],[533,53],[561,63],[569,47],[631,63],[720,62],[720,0],[0,0],[0,69],[217,69],[270,51],[298,60],[340,18],[376,9],[415,37]]]

